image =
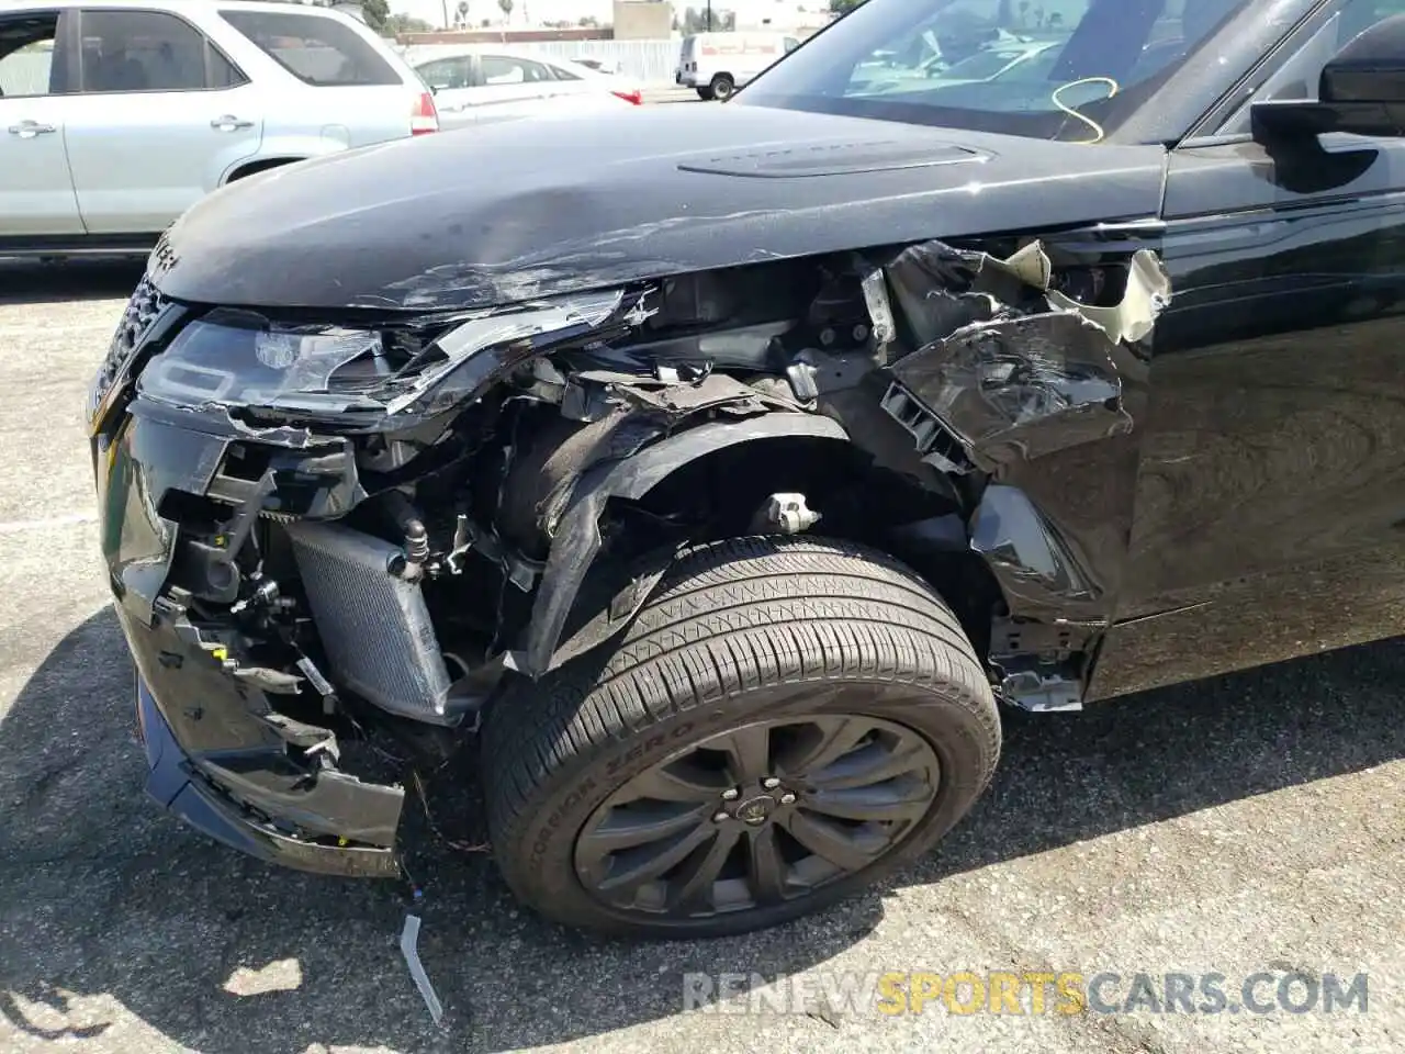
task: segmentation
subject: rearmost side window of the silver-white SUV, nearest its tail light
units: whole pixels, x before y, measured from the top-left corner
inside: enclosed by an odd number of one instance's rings
[[[399,84],[400,74],[350,25],[319,14],[239,11],[219,15],[305,84]]]

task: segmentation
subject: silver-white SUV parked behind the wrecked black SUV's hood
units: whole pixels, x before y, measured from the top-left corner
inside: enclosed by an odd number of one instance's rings
[[[247,0],[0,8],[0,256],[138,250],[216,187],[438,129],[364,24]]]

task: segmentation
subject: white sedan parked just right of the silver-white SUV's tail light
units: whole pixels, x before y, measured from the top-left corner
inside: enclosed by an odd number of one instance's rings
[[[416,62],[412,52],[412,62]],[[444,131],[569,110],[615,110],[643,101],[638,84],[569,59],[502,48],[464,48],[417,62],[434,93]]]

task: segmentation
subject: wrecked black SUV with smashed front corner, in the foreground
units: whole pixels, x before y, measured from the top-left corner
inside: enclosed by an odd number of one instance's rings
[[[934,846],[998,704],[1405,631],[1405,15],[1087,0],[1057,82],[853,89],[953,7],[187,212],[89,413],[152,794],[395,876],[476,749],[525,904],[711,936]]]

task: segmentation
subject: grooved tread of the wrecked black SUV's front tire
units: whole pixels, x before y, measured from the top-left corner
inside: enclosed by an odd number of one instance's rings
[[[726,696],[836,677],[936,689],[976,718],[993,769],[1000,727],[985,669],[916,572],[815,537],[731,538],[684,554],[613,653],[520,683],[489,713],[483,776],[503,876],[521,894],[527,881],[510,847],[548,784],[579,774],[603,749]]]

